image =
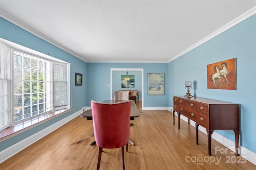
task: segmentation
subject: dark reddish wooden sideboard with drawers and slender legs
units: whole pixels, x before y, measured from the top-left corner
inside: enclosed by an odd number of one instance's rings
[[[173,97],[174,113],[178,113],[178,129],[180,114],[196,122],[196,144],[198,145],[198,126],[206,128],[208,134],[208,154],[211,154],[212,133],[214,130],[233,130],[235,133],[236,155],[238,155],[239,108],[238,104],[200,97]]]

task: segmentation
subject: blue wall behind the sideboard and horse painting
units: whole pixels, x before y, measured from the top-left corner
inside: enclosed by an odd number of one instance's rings
[[[207,64],[236,58],[237,90],[207,88]],[[240,145],[256,153],[256,15],[242,21],[169,64],[169,106],[184,95],[184,82],[196,82],[193,96],[240,104]],[[195,86],[194,86],[195,87]],[[234,141],[233,131],[216,131]]]

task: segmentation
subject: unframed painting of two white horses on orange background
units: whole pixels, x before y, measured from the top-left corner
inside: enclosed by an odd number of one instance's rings
[[[236,58],[207,65],[207,88],[236,90]]]

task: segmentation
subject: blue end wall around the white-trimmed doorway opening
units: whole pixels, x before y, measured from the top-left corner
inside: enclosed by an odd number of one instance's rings
[[[168,106],[168,63],[87,63],[87,68],[88,95],[86,106],[90,106],[90,100],[103,101],[110,99],[110,87],[108,87],[108,84],[110,84],[110,68],[143,68],[144,107]],[[148,73],[165,74],[164,95],[148,95]]]

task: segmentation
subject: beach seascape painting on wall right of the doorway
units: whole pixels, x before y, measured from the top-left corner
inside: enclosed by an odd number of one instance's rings
[[[148,95],[164,95],[164,73],[148,73]]]

